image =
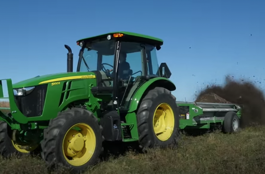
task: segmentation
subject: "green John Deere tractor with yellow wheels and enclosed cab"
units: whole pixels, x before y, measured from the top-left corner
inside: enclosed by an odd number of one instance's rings
[[[6,79],[10,114],[0,112],[0,153],[34,153],[73,172],[97,162],[103,141],[138,141],[140,148],[175,145],[179,107],[166,63],[158,66],[161,39],[113,32],[77,41],[67,72],[15,84]],[[107,68],[109,66],[109,68]],[[3,98],[2,80],[0,97]],[[1,99],[1,98],[0,98]]]

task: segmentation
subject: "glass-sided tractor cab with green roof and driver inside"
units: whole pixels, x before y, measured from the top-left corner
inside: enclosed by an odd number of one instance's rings
[[[141,79],[144,82],[162,76],[156,49],[161,48],[163,41],[123,33],[109,33],[77,41],[81,46],[77,72],[96,74],[97,86],[91,89],[93,95],[99,98],[102,98],[101,95],[112,95],[110,104],[113,110],[129,109],[130,97],[136,89],[131,88],[135,84],[137,87]],[[109,98],[104,101],[109,102]]]

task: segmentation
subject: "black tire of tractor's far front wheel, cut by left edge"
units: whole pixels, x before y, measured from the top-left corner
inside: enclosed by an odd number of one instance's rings
[[[35,152],[37,152],[37,149],[29,153],[19,152],[14,148],[11,137],[12,130],[10,126],[8,126],[4,121],[0,121],[0,154],[3,157],[9,158],[11,155],[21,156],[23,154],[33,155]]]

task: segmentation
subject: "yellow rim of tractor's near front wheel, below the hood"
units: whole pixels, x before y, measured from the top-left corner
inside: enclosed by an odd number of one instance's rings
[[[69,164],[84,165],[95,152],[96,135],[89,125],[78,123],[66,132],[62,148],[65,160]]]

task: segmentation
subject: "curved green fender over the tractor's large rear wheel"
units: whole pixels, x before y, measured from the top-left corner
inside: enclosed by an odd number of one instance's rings
[[[149,87],[164,87],[168,89],[169,91],[176,90],[176,86],[174,85],[174,83],[167,78],[156,77],[156,78],[150,79],[138,88],[138,90],[132,97],[132,102],[130,103],[128,112],[133,112],[137,109],[140,99],[142,98],[144,92],[149,90],[148,89]]]

